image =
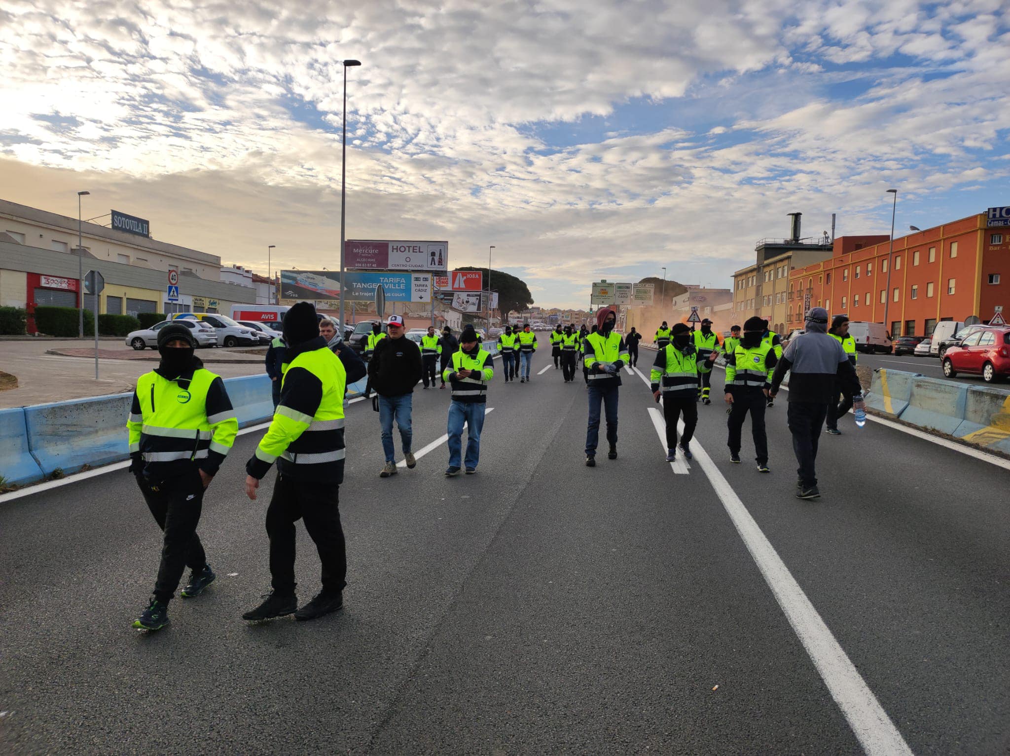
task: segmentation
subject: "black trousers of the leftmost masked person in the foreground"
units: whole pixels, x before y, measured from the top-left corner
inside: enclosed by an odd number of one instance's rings
[[[172,476],[165,480],[147,480],[138,475],[136,482],[155,522],[165,534],[155,598],[168,603],[186,567],[199,571],[207,566],[207,555],[196,535],[203,510],[203,480],[197,466],[187,463],[173,466]]]

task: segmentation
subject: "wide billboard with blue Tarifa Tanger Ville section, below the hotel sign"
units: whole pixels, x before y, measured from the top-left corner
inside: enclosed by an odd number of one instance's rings
[[[382,284],[389,302],[430,302],[431,276],[426,273],[345,273],[347,301],[371,302]],[[340,274],[333,271],[281,271],[281,297],[339,301]]]

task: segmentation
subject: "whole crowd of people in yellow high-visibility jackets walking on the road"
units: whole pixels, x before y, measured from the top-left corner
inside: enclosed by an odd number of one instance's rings
[[[608,459],[617,459],[618,393],[621,369],[637,361],[640,335],[627,337],[616,329],[617,313],[602,307],[592,329],[571,325],[550,333],[556,369],[566,383],[575,380],[581,358],[588,388],[586,466],[596,466],[601,413],[606,421]],[[854,402],[862,406],[862,389],[854,372],[854,343],[847,336],[847,318],[837,316],[827,328],[827,312],[813,308],[807,330],[783,351],[768,323],[749,318],[733,326],[723,342],[701,322],[692,330],[684,323],[656,330],[656,356],[651,369],[655,401],[663,400],[667,457],[677,451],[691,459],[691,439],[698,423],[697,404],[710,404],[710,374],[716,358],[726,358],[725,401],[729,404],[730,461],[740,461],[741,428],[751,417],[755,460],[769,472],[765,410],[773,405],[782,379],[791,371],[789,428],[799,462],[797,493],[815,498],[814,463],[817,436],[828,421],[837,434],[837,418]],[[266,512],[271,590],[261,603],[242,615],[264,621],[287,615],[311,620],[343,604],[346,554],[339,515],[339,485],[343,482],[344,395],[349,382],[366,374],[366,363],[337,335],[334,323],[317,315],[308,302],[291,307],[284,317],[283,338],[272,343],[267,371],[274,386],[275,412],[269,430],[245,463],[245,493],[257,498],[260,481],[277,465]],[[498,338],[505,382],[519,376],[530,379],[536,335],[529,324],[506,327]],[[164,532],[161,563],[148,604],[133,627],[159,630],[168,624],[168,605],[182,580],[190,577],[181,595],[200,595],[214,581],[206,553],[197,535],[202,501],[208,485],[230,451],[238,431],[234,408],[221,378],[203,367],[195,354],[191,332],[170,324],[158,334],[159,366],[137,381],[127,420],[130,472],[135,476],[155,521]],[[446,328],[434,328],[421,344],[405,338],[403,318],[392,315],[387,333],[377,327],[365,345],[373,408],[380,414],[385,465],[380,477],[397,474],[393,424],[399,429],[404,464],[417,464],[412,453],[411,408],[414,386],[434,386],[434,365],[440,359],[441,381],[450,388],[447,413],[448,467],[446,477],[476,473],[484,424],[488,385],[494,378],[493,356],[484,350],[472,325],[459,340]],[[709,376],[706,378],[705,376]],[[838,396],[844,398],[838,403]],[[684,433],[678,439],[678,420]],[[462,435],[468,430],[464,452]],[[321,563],[321,590],[299,606],[295,594],[295,523],[302,519],[316,545]]]

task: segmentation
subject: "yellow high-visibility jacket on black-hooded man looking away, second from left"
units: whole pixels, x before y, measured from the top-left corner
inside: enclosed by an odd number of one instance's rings
[[[295,368],[301,368],[315,376],[322,384],[322,400],[309,416],[283,403],[274,411],[270,429],[261,439],[256,457],[263,462],[277,462],[282,475],[314,474],[327,465],[329,471],[338,478],[343,475],[343,389],[347,373],[340,358],[328,348],[302,352],[295,356],[284,372],[284,380]],[[282,386],[283,391],[283,386]],[[338,468],[338,469],[336,469]]]

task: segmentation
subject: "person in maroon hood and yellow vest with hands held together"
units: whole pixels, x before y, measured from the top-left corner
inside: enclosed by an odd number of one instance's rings
[[[596,447],[600,438],[600,404],[606,409],[607,459],[617,459],[617,390],[621,368],[627,365],[628,351],[621,335],[614,330],[617,313],[601,307],[596,313],[599,330],[586,339],[585,365],[589,371],[589,426],[586,429],[586,467],[596,467]]]

